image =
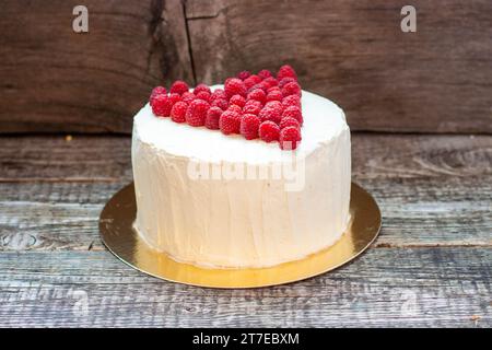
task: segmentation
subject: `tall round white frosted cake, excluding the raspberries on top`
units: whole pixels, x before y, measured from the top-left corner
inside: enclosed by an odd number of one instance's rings
[[[303,140],[282,151],[156,118],[145,105],[132,138],[141,237],[178,261],[225,268],[273,266],[337,242],[349,222],[350,130],[327,98],[303,91],[302,109]]]

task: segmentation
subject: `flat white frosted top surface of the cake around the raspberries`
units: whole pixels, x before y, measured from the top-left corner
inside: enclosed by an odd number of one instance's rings
[[[211,90],[222,89],[213,85]],[[302,142],[294,152],[306,156],[348,129],[343,110],[331,101],[302,91]],[[207,127],[174,122],[157,118],[149,104],[134,116],[133,132],[140,141],[171,155],[194,158],[207,162],[265,163],[281,161],[284,155],[278,142],[246,140],[242,135],[224,135]]]

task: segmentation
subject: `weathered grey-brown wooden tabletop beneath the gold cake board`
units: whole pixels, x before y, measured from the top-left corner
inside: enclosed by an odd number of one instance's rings
[[[286,285],[161,281],[98,236],[131,182],[130,138],[0,137],[0,326],[492,326],[492,136],[353,133],[383,230],[361,257]]]

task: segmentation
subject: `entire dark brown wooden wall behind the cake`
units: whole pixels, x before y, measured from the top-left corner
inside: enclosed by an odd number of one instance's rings
[[[130,132],[150,89],[295,66],[353,130],[492,132],[492,1],[3,0],[0,131]]]

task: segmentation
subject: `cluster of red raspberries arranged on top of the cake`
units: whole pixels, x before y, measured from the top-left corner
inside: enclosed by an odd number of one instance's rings
[[[213,92],[206,84],[190,92],[186,82],[177,80],[169,93],[154,88],[149,102],[156,117],[175,122],[239,133],[246,140],[278,141],[282,150],[295,150],[301,142],[301,86],[289,65],[277,77],[266,69],[257,74],[242,71]]]

